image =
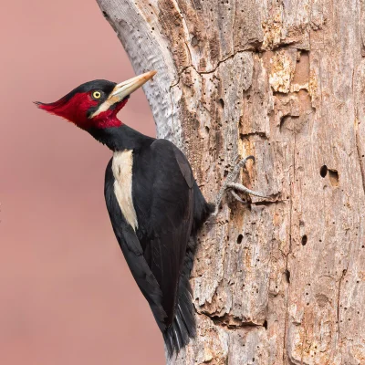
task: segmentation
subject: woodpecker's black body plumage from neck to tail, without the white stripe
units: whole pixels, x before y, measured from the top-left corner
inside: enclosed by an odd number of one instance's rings
[[[90,132],[112,151],[132,150],[136,231],[121,214],[112,159],[105,175],[105,199],[120,248],[171,355],[195,335],[189,284],[194,234],[214,205],[206,203],[189,162],[172,142],[152,139],[125,125]]]

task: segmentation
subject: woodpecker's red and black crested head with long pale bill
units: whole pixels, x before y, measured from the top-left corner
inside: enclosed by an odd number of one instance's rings
[[[119,127],[121,122],[117,113],[127,103],[130,94],[155,74],[156,71],[150,71],[120,84],[101,79],[89,81],[53,103],[36,101],[36,105],[83,130]]]

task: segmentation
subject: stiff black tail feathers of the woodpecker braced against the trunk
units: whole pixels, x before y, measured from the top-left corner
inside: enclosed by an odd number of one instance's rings
[[[179,298],[175,317],[173,318],[172,325],[163,332],[163,339],[169,358],[172,357],[173,353],[178,353],[180,349],[183,349],[196,334],[192,287],[189,283],[190,273],[193,268],[195,245],[195,241],[191,237],[185,256],[183,273],[180,277]]]

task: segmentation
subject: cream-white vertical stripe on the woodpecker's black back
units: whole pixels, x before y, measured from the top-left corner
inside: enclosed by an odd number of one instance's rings
[[[134,231],[138,228],[137,214],[131,197],[133,155],[131,150],[114,152],[111,169],[115,178],[114,193],[121,213]]]

